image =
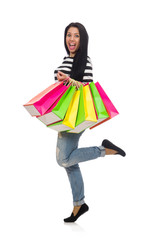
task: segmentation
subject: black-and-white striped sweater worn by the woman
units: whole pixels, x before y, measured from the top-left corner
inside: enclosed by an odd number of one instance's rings
[[[59,66],[55,71],[54,71],[54,76],[55,76],[55,81],[57,81],[57,72],[61,71],[68,76],[70,76],[72,65],[73,65],[73,57],[66,56],[63,58],[63,62],[61,66]],[[77,80],[77,79],[75,79]],[[77,80],[78,81],[78,80]],[[83,81],[82,82],[92,82],[93,81],[93,68],[92,68],[92,62],[90,57],[87,56],[87,63],[86,63],[86,68],[84,71],[83,75]]]

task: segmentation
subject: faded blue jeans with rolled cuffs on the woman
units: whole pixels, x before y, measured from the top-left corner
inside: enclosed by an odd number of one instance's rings
[[[79,138],[83,132],[79,134],[59,132],[57,139],[56,159],[67,172],[74,206],[84,203],[84,183],[78,163],[105,156],[103,146],[78,148]]]

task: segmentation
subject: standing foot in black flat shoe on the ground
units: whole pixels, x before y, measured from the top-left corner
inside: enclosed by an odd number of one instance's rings
[[[86,203],[81,206],[75,206],[70,217],[65,218],[64,222],[75,222],[82,214],[87,212],[89,207]]]

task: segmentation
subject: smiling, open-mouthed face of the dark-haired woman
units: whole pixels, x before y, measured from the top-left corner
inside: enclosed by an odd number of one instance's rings
[[[66,45],[70,52],[70,57],[74,57],[80,46],[80,34],[76,27],[70,27],[66,34]]]

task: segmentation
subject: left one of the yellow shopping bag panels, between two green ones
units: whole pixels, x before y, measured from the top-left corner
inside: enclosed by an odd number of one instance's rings
[[[76,123],[79,98],[80,98],[80,90],[77,90],[74,93],[74,96],[73,96],[71,103],[68,107],[68,110],[66,112],[66,116],[63,120],[64,125],[66,125],[70,128],[73,128],[73,129],[75,128],[75,123]]]

